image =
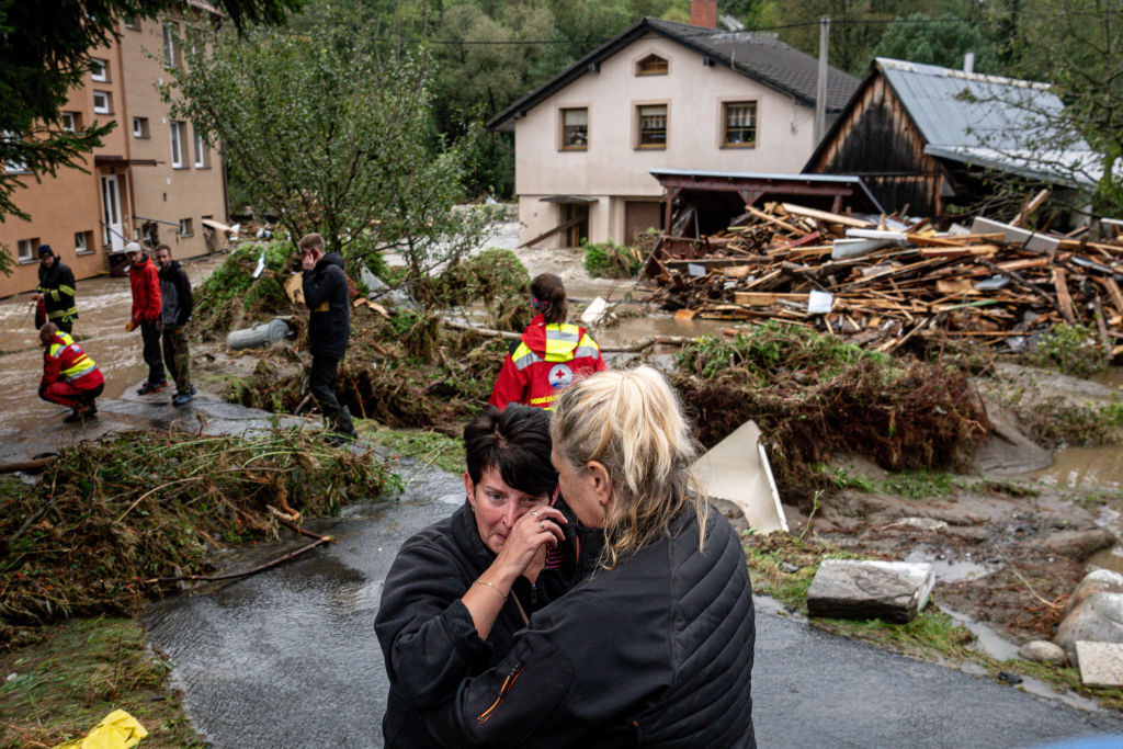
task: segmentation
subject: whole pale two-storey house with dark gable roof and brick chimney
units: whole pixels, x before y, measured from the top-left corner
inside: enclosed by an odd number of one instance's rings
[[[645,18],[487,122],[514,131],[520,240],[630,241],[660,226],[651,170],[797,173],[815,148],[818,62],[769,36]],[[830,68],[828,127],[859,81]]]

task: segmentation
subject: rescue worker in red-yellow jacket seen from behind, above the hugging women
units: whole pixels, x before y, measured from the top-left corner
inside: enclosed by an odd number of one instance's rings
[[[562,278],[542,273],[530,282],[538,314],[511,346],[489,402],[497,409],[526,403],[553,409],[563,390],[605,368],[601,347],[581,326],[565,321],[568,303]]]

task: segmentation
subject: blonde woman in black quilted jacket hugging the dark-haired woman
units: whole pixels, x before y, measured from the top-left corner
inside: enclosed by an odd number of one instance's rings
[[[649,367],[557,400],[562,493],[601,565],[496,666],[427,716],[446,746],[754,747],[752,591],[740,540],[693,486],[691,430]]]

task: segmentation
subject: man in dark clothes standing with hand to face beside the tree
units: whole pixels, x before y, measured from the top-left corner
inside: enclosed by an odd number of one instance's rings
[[[338,437],[354,439],[358,435],[350,412],[336,400],[336,374],[350,338],[350,294],[344,258],[338,253],[325,254],[323,238],[318,234],[303,237],[299,247],[304,268],[304,303],[310,311],[308,348],[312,353],[312,371],[309,386],[329,428]]]

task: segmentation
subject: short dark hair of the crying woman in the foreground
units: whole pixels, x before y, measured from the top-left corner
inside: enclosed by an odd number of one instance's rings
[[[484,471],[495,468],[520,492],[550,494],[558,483],[550,446],[549,412],[521,403],[510,403],[502,411],[489,405],[464,428],[465,462],[473,484],[480,483]]]

